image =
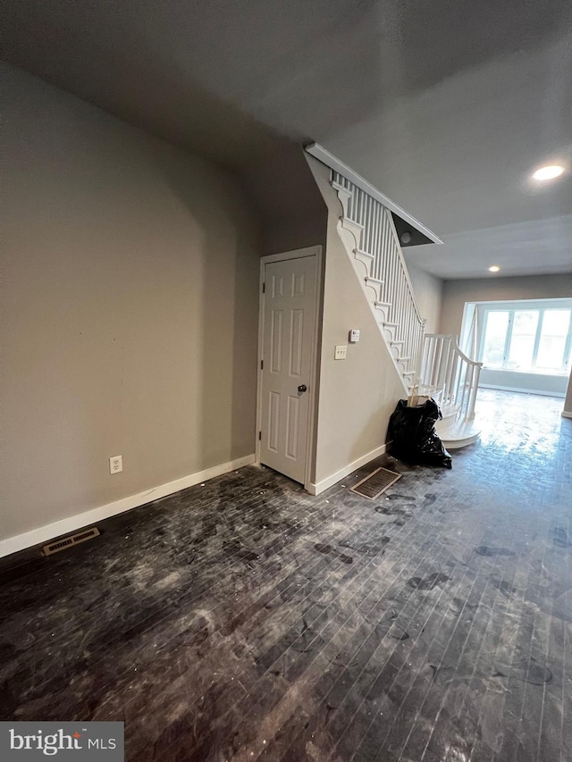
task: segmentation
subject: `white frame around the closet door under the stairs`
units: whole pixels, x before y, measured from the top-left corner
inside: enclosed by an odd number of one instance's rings
[[[260,465],[260,431],[262,431],[262,348],[265,330],[265,294],[263,284],[265,282],[265,265],[271,262],[284,262],[289,259],[300,259],[305,256],[315,256],[315,321],[312,331],[312,353],[310,360],[310,378],[309,378],[309,400],[308,400],[308,421],[307,421],[307,448],[306,448],[306,468],[304,472],[304,489],[309,492],[309,485],[312,481],[312,455],[315,440],[315,405],[316,389],[315,382],[317,378],[317,357],[318,357],[318,336],[320,324],[320,305],[321,305],[321,284],[322,284],[322,247],[310,246],[306,248],[297,248],[293,251],[284,251],[281,254],[271,254],[260,258],[260,282],[258,284],[258,381],[257,381],[257,464]]]

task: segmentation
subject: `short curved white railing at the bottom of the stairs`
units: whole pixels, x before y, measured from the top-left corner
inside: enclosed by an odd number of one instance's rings
[[[458,409],[458,421],[475,418],[476,393],[483,363],[471,360],[459,348],[456,336],[426,333],[420,380],[430,388],[442,389],[442,406]]]

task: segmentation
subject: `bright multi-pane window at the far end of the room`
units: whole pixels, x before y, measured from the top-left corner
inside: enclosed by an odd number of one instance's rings
[[[484,306],[480,351],[484,367],[550,375],[568,373],[572,308],[528,305],[515,309]]]

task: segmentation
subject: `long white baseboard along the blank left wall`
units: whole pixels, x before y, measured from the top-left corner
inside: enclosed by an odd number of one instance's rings
[[[206,468],[205,471],[198,471],[198,473],[191,473],[189,476],[183,476],[181,479],[168,481],[166,484],[153,487],[151,490],[145,490],[145,492],[139,492],[137,495],[130,495],[128,498],[114,500],[113,503],[107,503],[105,506],[93,508],[89,511],[84,511],[81,514],[68,516],[68,518],[61,519],[54,523],[48,523],[45,526],[40,526],[38,529],[33,529],[30,532],[24,532],[23,534],[17,534],[15,537],[9,537],[7,540],[0,540],[0,558],[10,556],[11,553],[17,553],[19,550],[24,550],[25,548],[32,548],[34,545],[39,545],[40,543],[46,543],[48,540],[54,540],[56,537],[61,537],[63,534],[76,532],[84,526],[88,526],[88,524],[97,523],[106,518],[110,518],[111,516],[122,514],[125,511],[130,511],[131,508],[144,506],[146,503],[150,503],[153,500],[166,498],[167,495],[172,495],[173,492],[186,490],[187,487],[192,487],[195,484],[199,484],[201,481],[213,479],[214,476],[222,476],[223,473],[235,471],[237,468],[242,468],[244,465],[252,465],[256,463],[256,460],[257,456],[253,454],[240,457],[238,460],[231,460],[228,463],[214,465],[212,468]]]

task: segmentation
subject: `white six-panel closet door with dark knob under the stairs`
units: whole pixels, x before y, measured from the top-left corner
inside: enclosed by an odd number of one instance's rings
[[[317,256],[265,264],[260,462],[306,479]]]

